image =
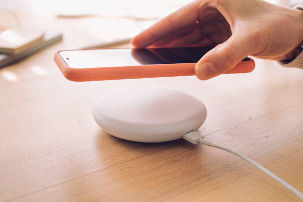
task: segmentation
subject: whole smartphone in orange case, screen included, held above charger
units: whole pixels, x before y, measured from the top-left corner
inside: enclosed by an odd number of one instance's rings
[[[71,81],[101,81],[195,75],[195,65],[210,47],[115,48],[62,50],[54,60]],[[254,69],[245,58],[226,73],[247,73]]]

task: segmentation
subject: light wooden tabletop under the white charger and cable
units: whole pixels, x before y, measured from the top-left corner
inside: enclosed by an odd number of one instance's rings
[[[303,192],[303,70],[256,60],[252,73],[209,81],[187,76],[75,83],[62,76],[53,54],[93,40],[90,33],[71,31],[68,20],[55,23],[65,27],[62,43],[0,69],[1,202],[299,202],[228,152],[185,140],[144,144],[105,134],[91,109],[121,88],[187,92],[208,110],[200,128],[205,139],[243,152]]]

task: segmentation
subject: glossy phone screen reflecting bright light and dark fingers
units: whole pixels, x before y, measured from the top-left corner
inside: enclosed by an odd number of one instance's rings
[[[139,66],[148,64],[196,63],[212,48],[150,48],[64,50],[59,55],[71,68]]]

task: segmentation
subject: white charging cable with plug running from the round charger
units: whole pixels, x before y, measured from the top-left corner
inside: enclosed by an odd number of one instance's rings
[[[207,140],[203,139],[204,136],[193,130],[190,131],[188,133],[186,133],[183,136],[183,139],[197,145],[198,143],[202,143],[203,145],[209,146],[209,147],[214,147],[214,148],[218,148],[221,150],[225,150],[227,152],[231,152],[241,158],[243,158],[244,160],[248,161],[249,163],[253,164],[255,167],[259,168],[260,170],[262,170],[264,173],[266,173],[269,177],[275,179],[276,181],[278,181],[281,185],[283,185],[285,188],[289,189],[291,192],[293,192],[295,195],[297,195],[301,200],[303,200],[303,194],[301,192],[299,192],[296,188],[294,188],[293,186],[291,186],[290,184],[288,184],[287,182],[285,182],[284,180],[282,180],[281,178],[279,178],[277,175],[273,174],[272,172],[270,172],[269,170],[267,170],[266,168],[264,168],[263,166],[261,166],[260,164],[258,164],[257,162],[253,161],[252,159],[250,159],[249,157],[247,157],[246,155],[237,152],[235,150],[232,150],[228,147],[224,147],[222,145],[217,145],[214,144],[212,142],[209,142]]]

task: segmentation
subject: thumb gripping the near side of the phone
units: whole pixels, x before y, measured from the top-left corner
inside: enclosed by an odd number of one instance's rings
[[[196,64],[195,74],[201,80],[218,76],[233,67],[249,55],[249,46],[235,35],[226,42],[209,50]]]

